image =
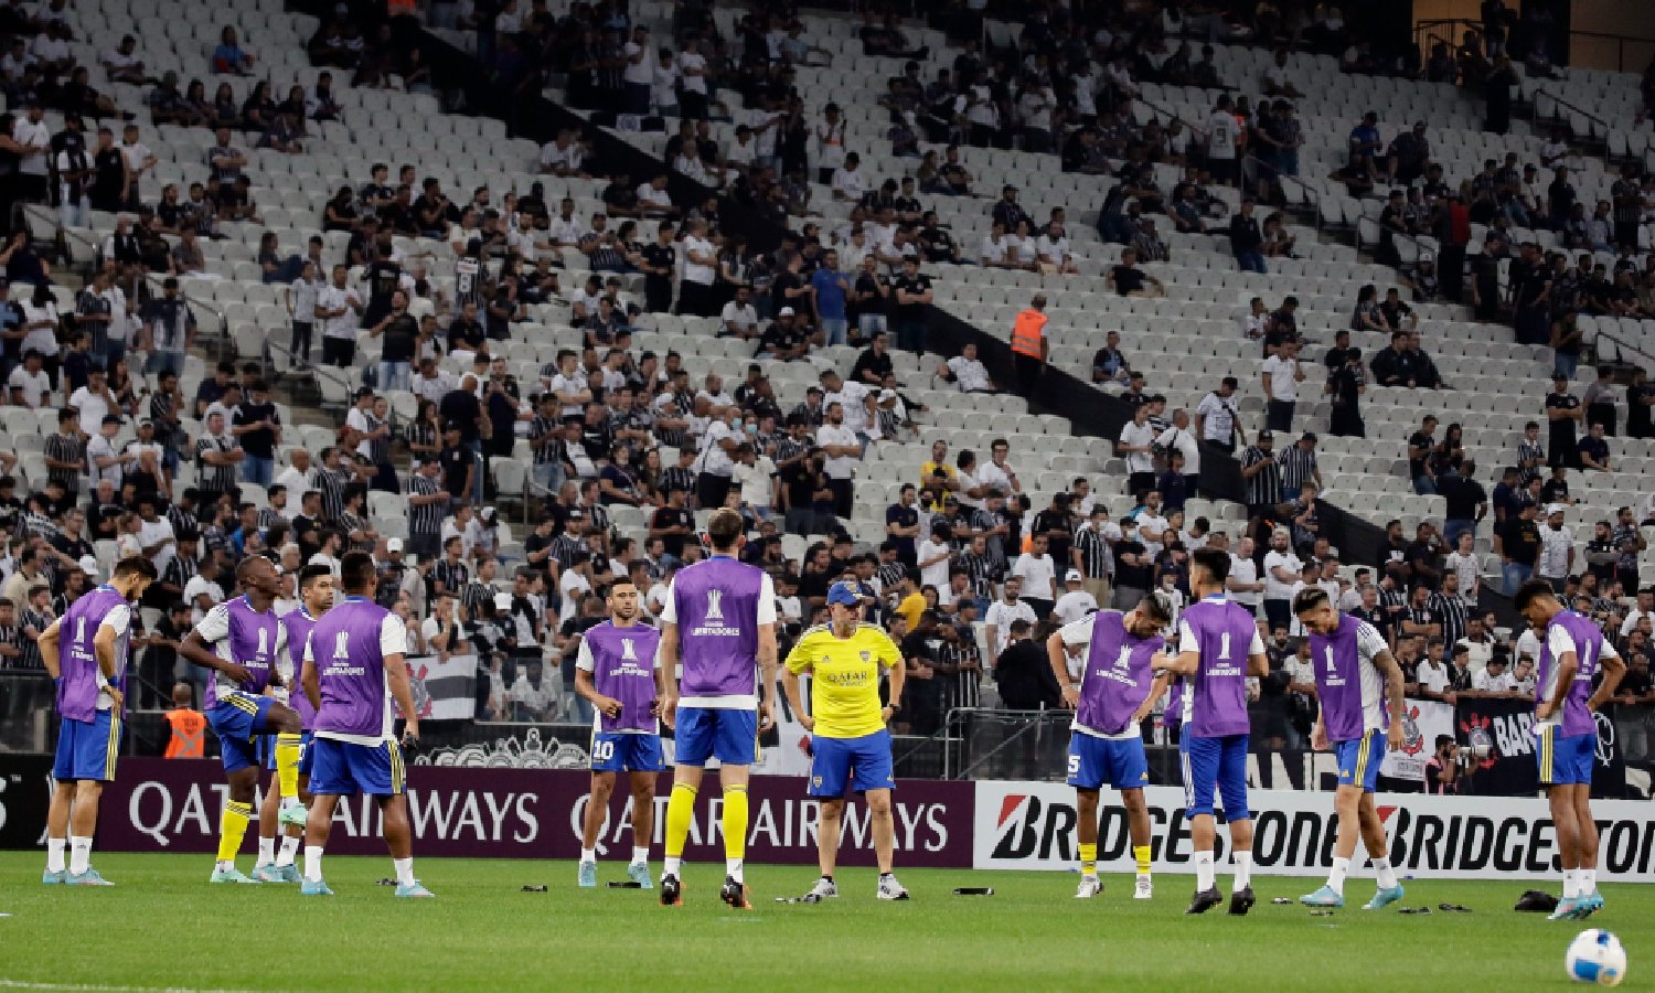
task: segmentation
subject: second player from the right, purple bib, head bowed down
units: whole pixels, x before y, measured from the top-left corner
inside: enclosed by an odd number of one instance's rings
[[[1385,748],[1402,748],[1402,667],[1390,655],[1372,624],[1341,612],[1327,599],[1327,591],[1307,586],[1293,597],[1293,614],[1311,636],[1311,667],[1316,670],[1316,697],[1321,712],[1311,732],[1311,748],[1327,751],[1332,745],[1339,758],[1339,789],[1334,813],[1339,814],[1339,841],[1334,842],[1334,869],[1327,884],[1299,897],[1307,907],[1344,907],[1344,880],[1350,872],[1350,856],[1357,837],[1367,847],[1379,877],[1379,892],[1362,905],[1382,910],[1402,899],[1402,884],[1390,867],[1385,823],[1374,808],[1374,789]]]

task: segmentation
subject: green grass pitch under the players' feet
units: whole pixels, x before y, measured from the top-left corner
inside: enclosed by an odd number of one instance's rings
[[[1162,875],[1152,902],[1132,880],[1074,899],[1076,875],[905,871],[905,904],[874,899],[871,869],[839,874],[821,905],[775,899],[809,889],[809,867],[748,867],[753,910],[718,902],[722,866],[685,867],[684,907],[655,892],[607,889],[624,862],[599,864],[579,890],[571,862],[424,859],[435,900],[376,885],[389,859],[328,859],[333,899],[296,885],[207,885],[210,856],[94,857],[118,885],[40,885],[43,857],[0,852],[0,988],[215,990],[1516,990],[1566,988],[1562,953],[1584,927],[1627,943],[1629,988],[1655,986],[1655,887],[1604,885],[1590,925],[1546,922],[1511,905],[1529,880],[1408,880],[1405,907],[1367,914],[1372,880],[1332,917],[1271,905],[1319,885],[1254,879],[1245,919],[1185,917],[1193,877]],[[252,869],[242,857],[243,869]],[[659,859],[652,864],[660,872]],[[544,884],[548,892],[521,892]],[[991,885],[991,897],[953,887]],[[1220,885],[1228,879],[1220,875]],[[1443,914],[1442,902],[1471,914]],[[1650,970],[1650,971],[1645,971]]]

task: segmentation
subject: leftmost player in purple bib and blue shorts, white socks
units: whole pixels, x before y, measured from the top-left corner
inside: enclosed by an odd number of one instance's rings
[[[40,660],[58,684],[56,788],[46,808],[45,884],[114,885],[91,866],[103,784],[114,780],[126,707],[132,606],[156,581],[156,566],[124,558],[109,583],[81,594],[40,634]],[[60,650],[68,632],[68,650]],[[68,864],[63,849],[68,847]]]

